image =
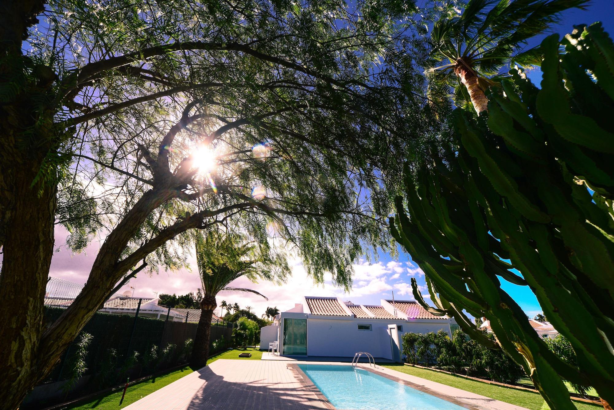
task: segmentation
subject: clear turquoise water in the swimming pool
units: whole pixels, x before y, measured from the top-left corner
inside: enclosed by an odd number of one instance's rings
[[[338,409],[465,410],[364,369],[340,365],[298,365]]]

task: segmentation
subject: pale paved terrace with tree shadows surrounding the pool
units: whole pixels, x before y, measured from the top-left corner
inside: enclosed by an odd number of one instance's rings
[[[349,366],[349,363],[347,365]],[[365,365],[361,367],[368,368]],[[381,366],[378,366],[377,370],[412,384],[424,386],[434,392],[452,396],[468,408],[526,410]],[[332,409],[330,403],[322,398],[313,384],[308,385],[301,381],[300,376],[297,379],[297,373],[290,369],[287,361],[220,359],[130,404],[125,409]]]

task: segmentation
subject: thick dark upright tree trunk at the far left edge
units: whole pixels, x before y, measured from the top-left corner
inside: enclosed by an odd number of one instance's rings
[[[10,124],[19,116],[3,112],[0,119],[0,403],[17,409],[37,384],[39,347],[44,324],[44,297],[53,256],[57,188],[54,181],[33,186],[46,154],[44,136],[25,146]]]

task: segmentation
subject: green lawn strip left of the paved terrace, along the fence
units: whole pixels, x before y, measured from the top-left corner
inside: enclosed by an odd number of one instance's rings
[[[252,353],[252,357],[243,358],[239,357],[239,353],[248,352]],[[237,359],[237,360],[260,360],[262,357],[262,352],[259,350],[228,350],[227,352],[219,353],[209,359],[207,363],[213,363],[218,359]],[[87,410],[87,409],[100,409],[100,410],[117,410],[122,409],[128,406],[128,404],[132,404],[137,400],[141,400],[141,398],[149,395],[150,393],[159,390],[162,387],[165,387],[168,384],[173,383],[177,379],[181,379],[181,377],[187,376],[192,373],[194,369],[190,369],[189,366],[185,366],[179,370],[175,370],[166,374],[161,374],[160,376],[156,376],[152,379],[143,380],[140,383],[131,385],[126,390],[126,396],[123,399],[123,403],[120,406],[119,401],[122,398],[122,390],[119,392],[106,393],[104,395],[97,396],[93,399],[88,400],[87,402],[82,402],[79,404],[74,404],[73,406],[67,406],[61,408],[61,410]]]

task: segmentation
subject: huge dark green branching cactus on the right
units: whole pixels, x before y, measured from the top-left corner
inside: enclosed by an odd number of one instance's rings
[[[505,95],[489,96],[488,119],[454,112],[457,145],[436,151],[454,156],[406,167],[391,233],[426,274],[434,307],[412,286],[429,312],[503,349],[550,408],[575,408],[562,379],[593,386],[607,405],[614,403],[614,45],[595,23],[562,41],[546,37],[541,50],[542,89],[511,70]],[[529,286],[577,366],[548,349],[502,279]],[[463,310],[488,318],[496,343],[480,338]]]

